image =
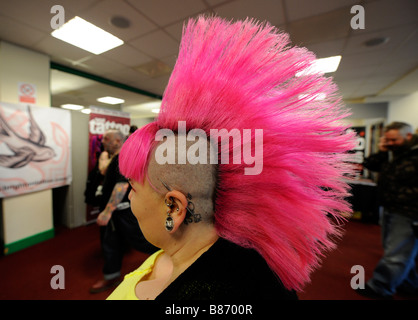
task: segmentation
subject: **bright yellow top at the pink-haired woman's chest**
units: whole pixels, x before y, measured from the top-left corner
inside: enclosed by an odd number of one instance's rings
[[[137,283],[152,271],[155,260],[157,260],[163,252],[163,250],[159,250],[153,253],[138,269],[128,273],[122,283],[107,297],[106,300],[138,300],[135,295]]]

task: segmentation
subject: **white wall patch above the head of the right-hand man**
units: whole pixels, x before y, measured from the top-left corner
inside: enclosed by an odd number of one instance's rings
[[[418,129],[418,91],[390,101],[388,123],[392,121],[406,122]]]

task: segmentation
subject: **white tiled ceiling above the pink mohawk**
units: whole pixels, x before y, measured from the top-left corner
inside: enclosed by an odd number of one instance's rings
[[[53,38],[50,9],[57,3],[64,7],[66,21],[78,15],[121,38],[124,45],[94,55]],[[364,30],[350,27],[355,4],[365,9]],[[58,64],[162,95],[169,72],[150,76],[138,68],[155,68],[159,61],[170,70],[183,21],[202,13],[267,20],[289,32],[294,45],[307,47],[318,58],[342,55],[332,76],[348,102],[387,101],[418,90],[417,0],[0,0],[0,39],[43,52]],[[110,24],[115,15],[129,19],[131,26],[121,29]],[[377,47],[364,45],[376,37],[389,41]],[[59,71],[51,79],[53,104],[75,97],[91,103],[97,94],[103,95],[105,86]],[[135,106],[154,98],[109,86],[105,91],[125,95],[124,106],[137,116],[150,116]]]

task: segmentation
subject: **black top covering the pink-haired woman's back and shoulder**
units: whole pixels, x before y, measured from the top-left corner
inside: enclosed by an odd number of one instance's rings
[[[297,300],[255,250],[219,238],[156,300]]]

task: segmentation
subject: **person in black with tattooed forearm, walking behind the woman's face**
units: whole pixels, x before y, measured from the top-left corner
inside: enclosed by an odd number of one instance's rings
[[[124,141],[125,137],[119,130],[106,131],[102,140],[104,151],[99,157],[98,167],[104,180],[97,224],[101,226],[104,267],[103,278],[90,288],[91,293],[102,292],[119,284],[127,245],[142,252],[153,251],[131,212],[129,184],[119,172],[119,151]]]

